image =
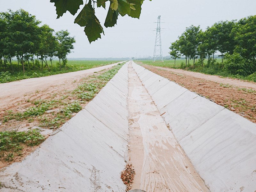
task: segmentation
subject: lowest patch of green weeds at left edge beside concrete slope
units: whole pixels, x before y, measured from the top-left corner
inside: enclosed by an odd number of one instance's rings
[[[19,154],[22,149],[21,143],[28,146],[39,145],[44,141],[44,136],[37,129],[27,132],[4,131],[0,132],[0,158],[12,161],[15,154]]]

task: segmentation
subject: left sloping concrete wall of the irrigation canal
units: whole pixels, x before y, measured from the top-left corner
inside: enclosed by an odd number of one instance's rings
[[[128,135],[124,65],[75,117],[21,163],[0,172],[0,191],[121,192]]]

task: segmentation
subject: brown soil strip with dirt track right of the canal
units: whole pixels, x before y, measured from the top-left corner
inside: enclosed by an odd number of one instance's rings
[[[256,123],[256,83],[140,64]]]

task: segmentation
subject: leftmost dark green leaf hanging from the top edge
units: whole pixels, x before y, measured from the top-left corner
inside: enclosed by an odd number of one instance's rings
[[[50,0],[50,2],[54,3],[56,7],[57,18],[60,18],[67,11],[75,15],[79,6],[83,4],[83,0]]]

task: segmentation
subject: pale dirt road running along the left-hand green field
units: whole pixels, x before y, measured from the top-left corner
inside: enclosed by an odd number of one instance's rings
[[[73,82],[79,81],[84,76],[92,75],[94,72],[111,68],[117,64],[0,84],[0,109],[1,111],[11,110],[13,105],[21,103],[27,95],[36,91],[44,91],[44,94],[47,94],[64,89],[69,90]]]

